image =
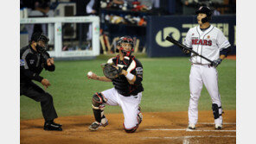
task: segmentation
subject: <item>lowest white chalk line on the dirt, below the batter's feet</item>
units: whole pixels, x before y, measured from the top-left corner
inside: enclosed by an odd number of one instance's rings
[[[142,140],[148,139],[190,139],[190,138],[211,138],[211,137],[236,137],[236,135],[188,135],[188,136],[173,136],[173,137],[142,137]]]

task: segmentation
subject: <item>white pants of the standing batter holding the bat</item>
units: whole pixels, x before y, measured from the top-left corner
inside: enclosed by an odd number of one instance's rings
[[[221,95],[218,89],[218,72],[215,67],[193,64],[189,75],[189,124],[196,124],[198,120],[198,100],[201,95],[202,85],[205,85],[212,99],[212,103],[221,107]],[[219,114],[222,109],[219,109]],[[222,116],[214,120],[215,124],[222,124]]]

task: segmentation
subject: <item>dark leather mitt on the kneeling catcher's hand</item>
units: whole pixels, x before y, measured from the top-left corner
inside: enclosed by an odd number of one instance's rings
[[[114,67],[114,64],[101,64],[101,67],[103,68],[103,73],[106,76],[106,78],[118,78],[120,73],[122,72],[122,68],[118,67],[118,69],[116,67]]]

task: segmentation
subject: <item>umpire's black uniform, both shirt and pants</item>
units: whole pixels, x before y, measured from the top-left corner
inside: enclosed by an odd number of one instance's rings
[[[42,69],[45,68],[50,72],[54,72],[55,66],[47,65],[47,59],[49,58],[47,52],[44,54],[37,53],[30,45],[22,47],[20,52],[20,95],[25,95],[36,102],[41,102],[42,115],[45,121],[53,121],[58,117],[54,109],[53,97],[48,92],[43,91],[40,86],[35,85],[32,80],[41,82],[43,79],[40,76]]]

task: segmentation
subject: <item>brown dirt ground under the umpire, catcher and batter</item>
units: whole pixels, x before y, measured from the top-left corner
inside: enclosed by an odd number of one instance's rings
[[[21,121],[21,143],[235,143],[236,111],[225,110],[223,129],[214,129],[212,111],[200,111],[196,130],[188,131],[188,112],[143,113],[136,133],[126,134],[122,114],[106,114],[109,125],[91,132],[93,116],[59,117],[63,131],[45,131],[43,120]]]

